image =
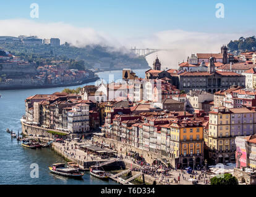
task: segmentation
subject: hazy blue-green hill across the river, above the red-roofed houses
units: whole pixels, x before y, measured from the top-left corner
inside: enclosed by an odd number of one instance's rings
[[[99,45],[79,48],[69,46],[69,44],[59,47],[50,46],[49,44],[0,44],[0,48],[28,62],[35,62],[38,66],[50,63],[53,60],[63,62],[75,60],[84,62],[85,69],[94,68],[95,64],[105,66],[105,70],[149,68],[147,60],[143,57]]]

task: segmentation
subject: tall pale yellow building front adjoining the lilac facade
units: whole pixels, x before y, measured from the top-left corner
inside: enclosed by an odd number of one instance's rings
[[[209,112],[209,158],[215,163],[230,162],[230,114],[229,108],[214,108]]]

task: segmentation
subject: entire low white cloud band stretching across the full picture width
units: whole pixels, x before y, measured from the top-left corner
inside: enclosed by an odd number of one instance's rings
[[[4,36],[38,36],[39,38],[60,38],[61,44],[69,42],[73,46],[84,47],[90,44],[111,46],[115,50],[129,52],[130,47],[173,49],[162,50],[148,55],[151,66],[156,55],[163,68],[177,68],[178,62],[196,53],[218,53],[223,44],[241,36],[252,36],[251,33],[203,33],[197,31],[168,30],[151,34],[151,36],[135,38],[116,38],[93,28],[77,27],[64,22],[41,23],[35,20],[13,19],[0,20],[1,35]],[[112,49],[112,50],[113,50]]]

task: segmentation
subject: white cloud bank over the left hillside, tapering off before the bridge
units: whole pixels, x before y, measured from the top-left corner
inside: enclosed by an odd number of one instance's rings
[[[0,20],[1,35],[38,36],[38,38],[59,38],[61,43],[70,42],[74,46],[83,47],[88,44],[116,46],[116,41],[105,33],[92,28],[79,28],[67,23],[38,23],[27,19]]]

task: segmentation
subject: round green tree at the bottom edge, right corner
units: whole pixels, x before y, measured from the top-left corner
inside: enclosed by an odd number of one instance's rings
[[[211,178],[211,185],[238,185],[238,180],[232,174],[227,173]]]

